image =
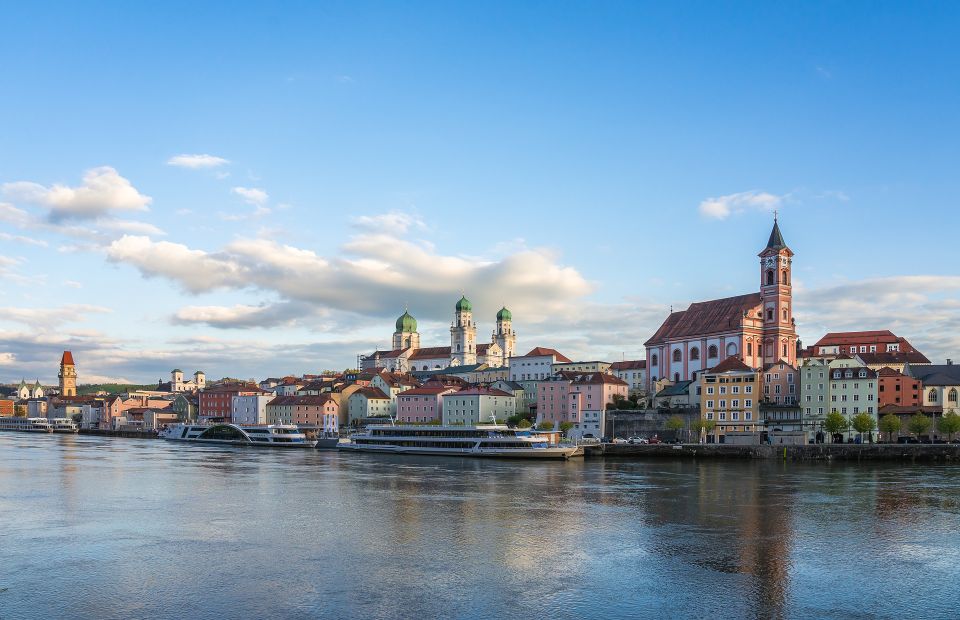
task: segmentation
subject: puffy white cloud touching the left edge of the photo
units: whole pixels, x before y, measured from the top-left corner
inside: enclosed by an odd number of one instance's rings
[[[88,170],[78,187],[46,187],[30,181],[4,183],[0,190],[14,202],[48,209],[52,221],[95,218],[122,211],[146,211],[152,201],[110,166]]]

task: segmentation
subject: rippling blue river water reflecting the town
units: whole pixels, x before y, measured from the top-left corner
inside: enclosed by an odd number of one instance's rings
[[[960,468],[0,434],[0,618],[956,618]]]

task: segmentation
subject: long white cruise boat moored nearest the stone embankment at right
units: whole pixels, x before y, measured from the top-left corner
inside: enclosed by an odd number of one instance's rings
[[[569,459],[580,446],[563,446],[555,435],[500,424],[477,426],[370,426],[354,433],[340,450],[386,454],[475,456],[516,459]]]

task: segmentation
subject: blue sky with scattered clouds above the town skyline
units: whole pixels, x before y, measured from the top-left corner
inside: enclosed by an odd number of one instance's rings
[[[950,3],[0,8],[0,381],[353,365],[465,291],[642,355],[755,290],[960,355]],[[208,155],[207,158],[180,158]],[[222,161],[221,161],[222,160]],[[185,165],[188,164],[188,165]]]

